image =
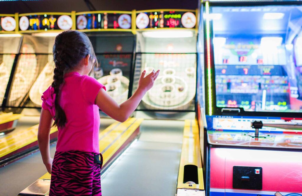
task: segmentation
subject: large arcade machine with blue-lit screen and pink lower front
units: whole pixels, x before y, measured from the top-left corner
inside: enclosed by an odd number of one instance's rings
[[[203,5],[207,195],[302,195],[301,3],[232,2]]]

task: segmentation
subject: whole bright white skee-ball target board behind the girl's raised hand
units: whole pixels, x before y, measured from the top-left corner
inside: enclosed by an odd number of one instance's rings
[[[189,32],[189,33],[188,33]],[[160,70],[154,86],[146,93],[138,109],[194,110],[196,93],[196,36],[177,30],[137,34],[133,92],[140,74]]]

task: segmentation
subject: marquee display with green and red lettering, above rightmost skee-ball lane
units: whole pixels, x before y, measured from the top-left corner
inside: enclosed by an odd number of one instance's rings
[[[137,13],[136,26],[146,28],[194,28],[195,12],[190,11],[152,11]]]

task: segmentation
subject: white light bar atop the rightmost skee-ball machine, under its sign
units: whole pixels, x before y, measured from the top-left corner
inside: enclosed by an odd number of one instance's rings
[[[145,31],[144,37],[150,38],[179,38],[179,37],[193,37],[192,31]]]

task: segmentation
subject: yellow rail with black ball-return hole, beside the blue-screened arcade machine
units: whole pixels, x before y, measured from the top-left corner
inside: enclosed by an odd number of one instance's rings
[[[197,166],[198,184],[184,182],[185,166]],[[191,175],[191,173],[190,173]],[[198,195],[204,195],[204,180],[202,172],[202,162],[199,143],[199,128],[197,120],[185,120],[185,128],[182,143],[182,153],[179,164],[177,195],[183,195],[183,190],[188,193],[189,190],[201,191]],[[185,194],[184,194],[185,195]]]

